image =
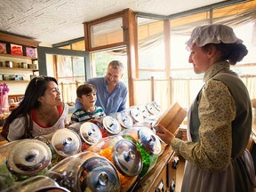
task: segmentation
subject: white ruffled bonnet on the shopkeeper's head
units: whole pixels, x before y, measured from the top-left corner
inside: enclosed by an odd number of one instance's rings
[[[232,28],[226,25],[212,24],[194,28],[186,44],[188,47],[192,47],[193,44],[202,47],[205,44],[220,44],[220,42],[224,44],[243,43],[236,37]]]

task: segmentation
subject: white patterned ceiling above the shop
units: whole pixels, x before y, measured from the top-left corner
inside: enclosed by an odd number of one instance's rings
[[[130,8],[159,15],[223,0],[1,0],[0,30],[51,45],[84,36],[83,22]]]

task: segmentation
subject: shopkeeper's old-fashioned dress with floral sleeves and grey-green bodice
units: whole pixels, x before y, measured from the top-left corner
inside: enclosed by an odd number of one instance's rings
[[[204,74],[204,86],[188,112],[188,141],[172,140],[186,161],[182,192],[253,191],[252,106],[244,83],[226,61]]]

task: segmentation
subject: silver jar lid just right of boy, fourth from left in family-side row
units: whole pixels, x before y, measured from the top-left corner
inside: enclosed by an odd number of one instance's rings
[[[107,130],[107,132],[111,134],[118,134],[119,132],[121,132],[120,124],[112,116],[103,117],[103,126]]]

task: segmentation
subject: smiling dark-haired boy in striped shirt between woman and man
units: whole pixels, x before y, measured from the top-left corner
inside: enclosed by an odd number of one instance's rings
[[[76,109],[72,114],[70,124],[87,122],[92,118],[105,116],[103,109],[95,106],[97,100],[96,92],[96,87],[92,84],[78,86],[76,96],[82,107]]]

